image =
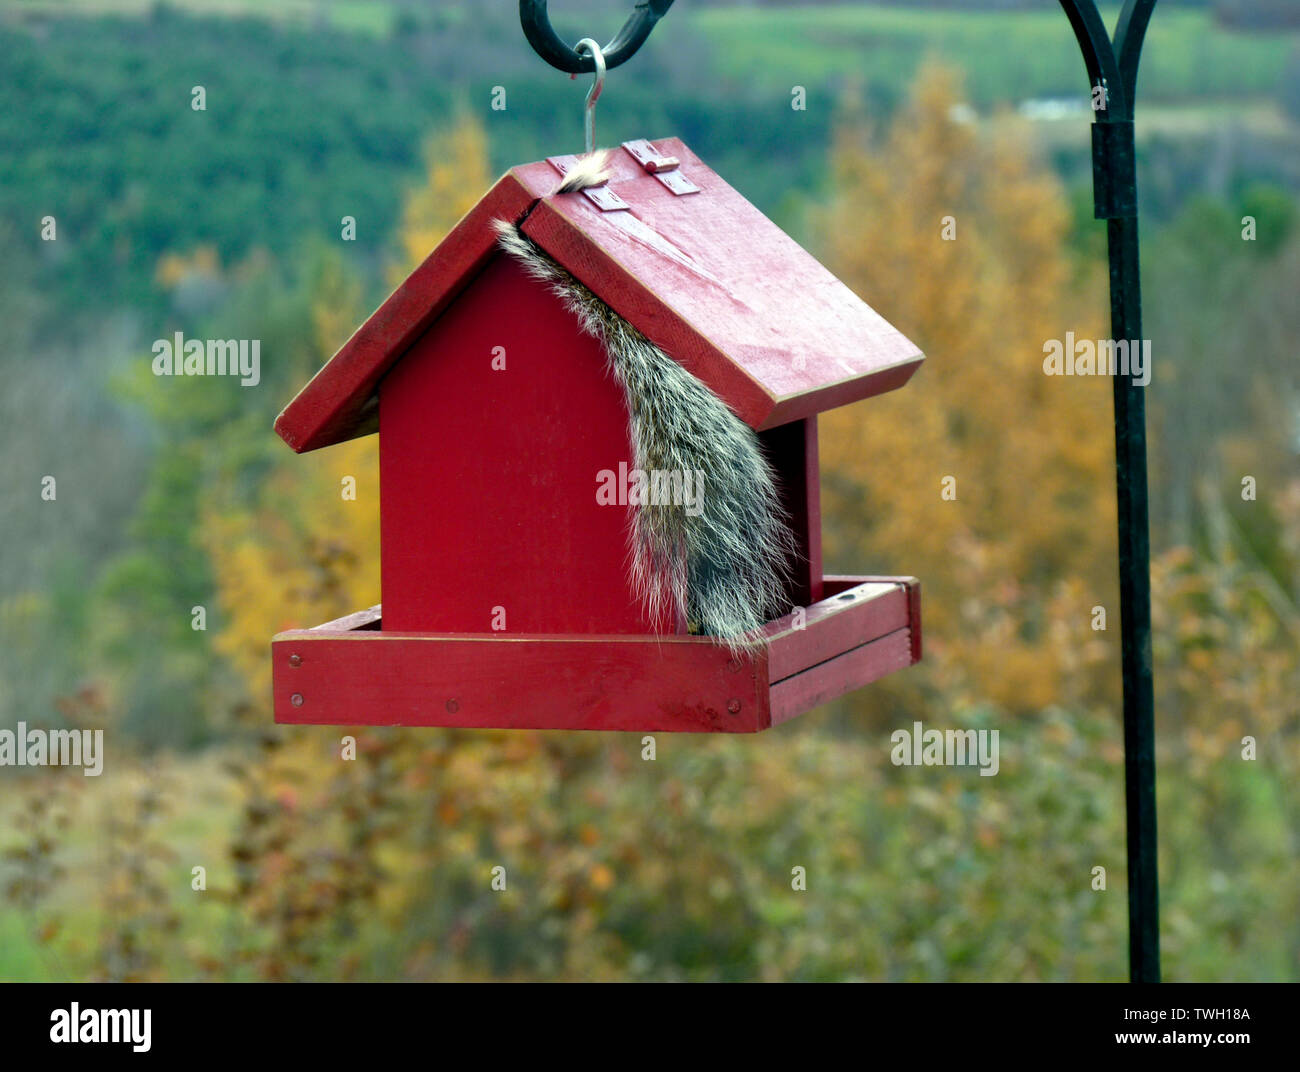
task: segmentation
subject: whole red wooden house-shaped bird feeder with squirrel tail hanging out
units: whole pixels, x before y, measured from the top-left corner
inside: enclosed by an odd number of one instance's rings
[[[276,721],[751,733],[915,663],[914,578],[822,573],[816,415],[920,361],[680,140],[514,168],[276,421],[378,430],[384,589],[273,639]]]

